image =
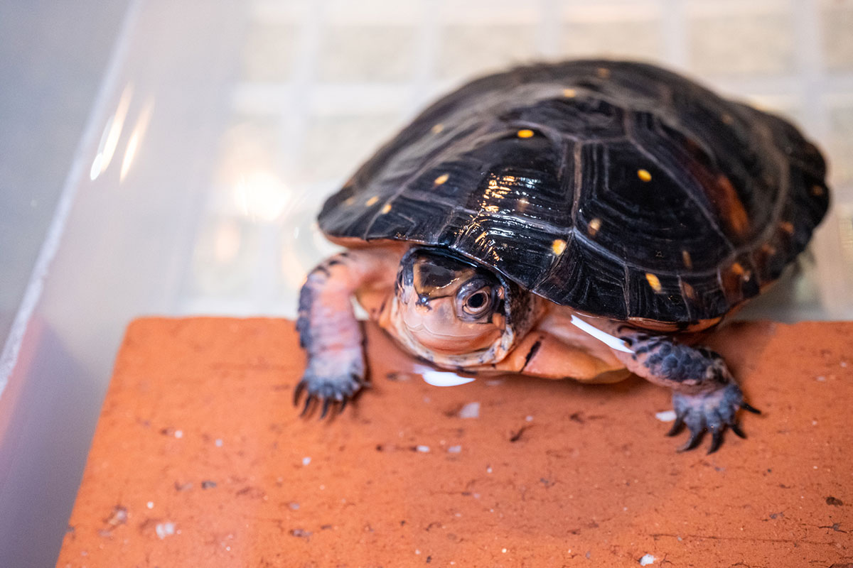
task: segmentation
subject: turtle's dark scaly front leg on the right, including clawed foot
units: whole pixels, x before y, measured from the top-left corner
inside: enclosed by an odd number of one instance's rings
[[[759,411],[746,404],[719,353],[630,328],[620,328],[618,335],[633,352],[618,353],[625,366],[647,381],[672,389],[676,422],[667,435],[679,433],[684,425],[690,431],[690,438],[679,451],[699,445],[706,430],[711,432],[709,454],[720,447],[727,427],[740,438],[746,438],[737,422],[737,411],[741,408],[756,414]]]

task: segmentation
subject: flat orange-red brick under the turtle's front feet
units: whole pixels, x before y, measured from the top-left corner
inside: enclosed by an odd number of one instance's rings
[[[763,415],[711,456],[649,383],[430,387],[368,331],[374,387],[319,422],[293,322],[134,322],[57,566],[853,561],[853,323],[719,333]]]

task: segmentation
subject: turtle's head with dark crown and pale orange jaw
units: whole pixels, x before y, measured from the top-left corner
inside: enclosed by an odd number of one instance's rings
[[[446,250],[403,255],[394,300],[397,339],[444,366],[496,363],[532,324],[529,292]]]

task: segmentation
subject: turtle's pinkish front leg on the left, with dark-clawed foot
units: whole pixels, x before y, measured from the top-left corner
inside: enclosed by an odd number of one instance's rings
[[[299,343],[308,355],[302,380],[293,392],[299,404],[307,392],[308,411],[316,400],[322,403],[321,418],[334,403],[343,410],[364,384],[363,336],[352,308],[352,295],[377,280],[393,283],[399,255],[386,248],[347,250],[322,261],[305,278],[299,293],[296,329]]]

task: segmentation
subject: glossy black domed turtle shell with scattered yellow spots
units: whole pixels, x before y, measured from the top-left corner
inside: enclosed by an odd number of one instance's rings
[[[586,313],[688,324],[757,295],[804,250],[825,174],[781,118],[656,66],[579,60],[438,100],[319,224],[454,250]]]

